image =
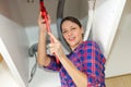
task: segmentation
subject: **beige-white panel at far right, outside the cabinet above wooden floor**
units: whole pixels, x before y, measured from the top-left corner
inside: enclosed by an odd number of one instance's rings
[[[127,0],[106,66],[107,77],[131,74],[131,0]]]

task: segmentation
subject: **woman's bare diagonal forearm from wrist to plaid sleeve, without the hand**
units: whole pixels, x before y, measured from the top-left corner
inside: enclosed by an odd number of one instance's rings
[[[69,59],[62,57],[60,59],[60,62],[62,63],[69,75],[72,77],[76,87],[87,87],[87,76],[79,71]]]

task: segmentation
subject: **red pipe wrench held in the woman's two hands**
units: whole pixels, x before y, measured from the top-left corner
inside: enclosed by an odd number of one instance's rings
[[[39,4],[40,4],[41,17],[45,18],[45,22],[46,22],[47,32],[51,33],[51,30],[50,30],[50,24],[49,24],[48,17],[47,17],[47,11],[46,11],[46,8],[44,5],[44,0],[39,0]],[[52,38],[50,38],[50,42],[53,42]],[[58,57],[56,57],[56,60],[57,60],[57,63],[59,63]]]

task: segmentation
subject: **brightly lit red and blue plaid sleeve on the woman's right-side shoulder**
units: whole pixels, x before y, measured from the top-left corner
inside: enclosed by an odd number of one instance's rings
[[[102,87],[105,83],[105,58],[96,42],[92,41],[85,48],[83,72],[87,76],[87,87]]]

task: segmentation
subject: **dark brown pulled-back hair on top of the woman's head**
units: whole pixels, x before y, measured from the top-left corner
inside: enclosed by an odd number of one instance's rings
[[[60,23],[60,29],[61,29],[61,30],[62,30],[62,24],[63,24],[63,22],[66,22],[66,21],[71,21],[71,22],[78,24],[80,27],[82,27],[82,24],[80,23],[80,21],[79,21],[78,18],[75,18],[75,17],[73,17],[73,16],[67,16],[67,17],[62,18],[62,21],[61,21],[61,23]]]

